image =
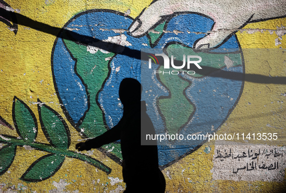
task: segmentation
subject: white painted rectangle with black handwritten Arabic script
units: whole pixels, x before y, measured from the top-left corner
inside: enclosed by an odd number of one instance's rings
[[[217,145],[213,178],[236,181],[283,181],[286,147],[267,145]]]

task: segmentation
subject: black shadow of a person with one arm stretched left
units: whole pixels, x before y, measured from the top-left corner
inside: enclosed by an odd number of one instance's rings
[[[146,113],[146,104],[141,101],[141,92],[137,80],[123,79],[119,88],[123,116],[119,123],[100,136],[76,144],[75,148],[90,150],[120,140],[124,193],[164,193],[166,181],[158,166],[157,142],[144,137],[155,134],[155,129]]]

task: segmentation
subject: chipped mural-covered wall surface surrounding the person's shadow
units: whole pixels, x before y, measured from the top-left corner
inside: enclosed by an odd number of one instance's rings
[[[196,137],[158,142],[166,193],[285,192],[285,16],[285,0],[0,0],[0,193],[122,193],[120,143],[75,144],[119,122],[125,77],[158,134]],[[163,48],[202,70],[152,74],[140,50]]]

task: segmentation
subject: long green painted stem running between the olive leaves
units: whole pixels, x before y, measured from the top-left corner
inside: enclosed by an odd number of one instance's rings
[[[6,136],[5,136],[6,137]],[[76,153],[74,151],[70,151],[68,149],[62,149],[62,148],[55,148],[53,146],[50,146],[48,144],[41,144],[41,143],[27,143],[25,142],[24,139],[16,139],[16,138],[9,138],[8,140],[5,140],[3,138],[0,137],[0,142],[2,143],[12,143],[15,146],[30,146],[31,148],[35,148],[38,150],[42,150],[42,151],[46,151],[49,153],[54,153],[57,155],[63,155],[63,156],[67,156],[70,158],[75,158],[84,162],[88,162],[91,165],[97,167],[98,169],[104,171],[107,174],[111,173],[111,168],[109,168],[108,166],[106,166],[103,163],[100,163],[98,160],[95,160],[89,156],[86,156],[84,154],[81,153]]]

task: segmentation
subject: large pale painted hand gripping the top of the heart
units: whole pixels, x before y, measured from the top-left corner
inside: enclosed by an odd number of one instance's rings
[[[132,36],[140,37],[166,17],[184,13],[205,15],[213,19],[213,26],[205,37],[194,43],[193,48],[215,48],[247,23],[284,17],[285,10],[286,0],[157,0],[135,18],[129,31]]]

